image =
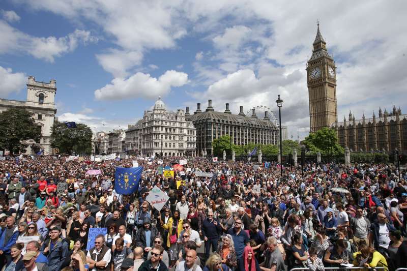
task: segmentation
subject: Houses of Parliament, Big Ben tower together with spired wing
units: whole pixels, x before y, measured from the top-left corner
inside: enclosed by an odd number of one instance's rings
[[[396,148],[407,152],[407,114],[393,106],[391,112],[379,109],[379,116],[361,119],[349,113],[348,119],[338,122],[336,102],[336,67],[328,53],[326,42],[319,30],[313,42],[312,56],[307,63],[307,86],[309,97],[310,132],[325,127],[336,130],[339,144],[355,152]]]

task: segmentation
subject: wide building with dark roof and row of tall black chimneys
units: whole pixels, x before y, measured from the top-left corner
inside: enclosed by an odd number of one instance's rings
[[[279,132],[265,112],[263,119],[257,118],[255,109],[251,116],[243,113],[240,107],[238,115],[232,114],[229,104],[224,112],[217,112],[212,107],[212,100],[208,100],[205,112],[200,110],[200,103],[191,115],[189,107],[186,108],[185,118],[193,123],[196,128],[196,152],[201,155],[213,155],[212,142],[220,136],[229,135],[236,145],[277,144]]]

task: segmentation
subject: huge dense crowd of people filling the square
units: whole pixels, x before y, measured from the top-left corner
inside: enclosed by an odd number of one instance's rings
[[[160,174],[180,159],[174,177]],[[133,160],[138,191],[118,194],[115,167]],[[169,197],[161,210],[146,199],[155,186]],[[5,271],[407,266],[407,173],[385,164],[7,157],[0,206]],[[106,233],[90,238],[91,228]]]

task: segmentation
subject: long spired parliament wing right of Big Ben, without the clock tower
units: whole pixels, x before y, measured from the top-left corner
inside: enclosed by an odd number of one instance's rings
[[[393,106],[393,111],[388,113],[385,109],[379,109],[379,117],[374,112],[372,118],[355,119],[349,112],[348,120],[332,124],[339,138],[339,144],[343,147],[356,151],[385,150],[391,152],[394,149],[407,151],[407,114],[402,114],[401,109]]]

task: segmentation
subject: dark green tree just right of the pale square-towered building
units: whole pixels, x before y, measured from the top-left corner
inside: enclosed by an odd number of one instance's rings
[[[76,124],[77,128],[68,128],[58,121],[52,126],[52,147],[60,153],[90,154],[92,152],[92,130],[85,124]]]

